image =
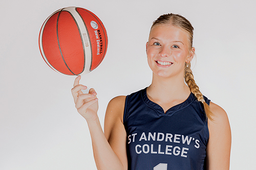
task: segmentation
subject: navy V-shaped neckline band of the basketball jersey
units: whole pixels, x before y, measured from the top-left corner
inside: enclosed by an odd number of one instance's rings
[[[182,103],[180,103],[180,104],[178,104],[178,105],[175,105],[175,106],[169,108],[169,109],[164,113],[164,110],[163,110],[163,108],[162,108],[160,105],[158,105],[157,103],[155,103],[155,102],[153,102],[153,101],[151,101],[150,99],[147,98],[146,89],[147,89],[147,87],[144,88],[144,89],[141,91],[141,95],[142,95],[143,102],[144,102],[148,107],[151,107],[152,109],[156,110],[159,115],[168,115],[168,116],[171,116],[171,115],[173,115],[175,112],[177,112],[177,111],[179,111],[179,110],[181,110],[181,109],[186,108],[187,106],[189,106],[192,102],[194,102],[194,101],[196,100],[195,95],[190,92],[188,98],[187,98],[184,102],[182,102]]]

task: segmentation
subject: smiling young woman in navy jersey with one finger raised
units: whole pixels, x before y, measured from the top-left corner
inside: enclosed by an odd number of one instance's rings
[[[75,79],[72,94],[87,120],[98,169],[229,169],[227,114],[202,95],[190,69],[193,30],[176,14],[154,21],[146,43],[152,84],[110,101],[104,133],[96,91],[83,94],[87,87]]]

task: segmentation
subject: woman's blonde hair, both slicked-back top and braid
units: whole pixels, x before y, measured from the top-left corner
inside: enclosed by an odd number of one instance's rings
[[[170,14],[164,14],[159,16],[153,22],[151,29],[157,25],[168,25],[168,24],[182,29],[189,35],[189,38],[188,38],[189,45],[190,45],[189,51],[191,52],[191,48],[193,47],[193,36],[194,36],[194,28],[192,27],[191,23],[181,15],[170,13]],[[205,102],[203,94],[199,90],[199,87],[194,80],[194,76],[190,66],[191,66],[191,63],[184,63],[185,82],[190,88],[190,91],[196,96],[197,100],[203,103],[206,116],[210,120],[212,120],[213,113],[210,111],[209,105]]]

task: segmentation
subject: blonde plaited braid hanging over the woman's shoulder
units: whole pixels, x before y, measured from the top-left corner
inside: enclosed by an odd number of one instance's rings
[[[194,76],[193,76],[192,70],[190,69],[190,66],[191,66],[190,63],[185,64],[184,79],[188,87],[190,88],[190,91],[196,96],[197,100],[203,103],[206,116],[210,120],[212,120],[213,113],[210,111],[209,105],[207,105],[207,103],[205,102],[203,98],[203,94],[199,90],[199,87],[194,80]]]

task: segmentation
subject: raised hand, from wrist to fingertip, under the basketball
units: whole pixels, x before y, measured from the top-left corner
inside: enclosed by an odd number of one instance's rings
[[[81,76],[75,79],[74,87],[71,92],[74,98],[75,107],[78,113],[83,116],[87,122],[97,119],[98,99],[96,91],[91,88],[89,93],[83,93],[81,90],[87,89],[87,86],[79,84]]]

